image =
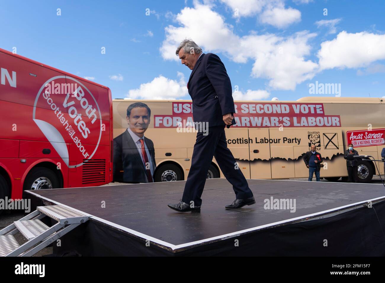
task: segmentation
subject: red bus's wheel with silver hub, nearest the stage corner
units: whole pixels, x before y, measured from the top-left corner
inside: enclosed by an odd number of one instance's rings
[[[41,190],[59,188],[59,180],[54,172],[44,167],[35,167],[25,178],[23,190]]]

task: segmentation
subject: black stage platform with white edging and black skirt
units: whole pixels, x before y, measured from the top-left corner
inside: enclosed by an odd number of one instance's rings
[[[248,183],[256,204],[234,211],[224,209],[234,200],[231,184],[208,179],[196,214],[167,207],[179,201],[185,181],[28,193],[38,205],[61,204],[91,216],[54,245],[59,256],[385,256],[382,184]],[[295,212],[265,209],[271,198],[295,199]]]

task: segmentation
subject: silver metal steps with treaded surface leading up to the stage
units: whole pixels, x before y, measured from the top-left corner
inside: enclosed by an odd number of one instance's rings
[[[47,226],[40,220],[46,216],[57,223]],[[32,256],[88,218],[61,205],[38,206],[37,210],[0,230],[0,256]],[[13,236],[19,232],[27,239],[22,245]]]

